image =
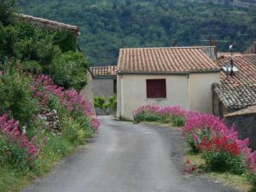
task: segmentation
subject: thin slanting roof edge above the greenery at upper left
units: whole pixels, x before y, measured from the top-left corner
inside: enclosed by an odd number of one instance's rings
[[[74,32],[76,35],[79,35],[79,27],[78,26],[71,26],[71,25],[67,25],[65,23],[54,21],[54,20],[45,20],[43,18],[34,17],[31,15],[15,14],[15,16],[22,20],[27,20],[29,22],[37,24],[39,26],[47,26],[47,27],[51,27],[51,28],[66,29],[66,30]]]

